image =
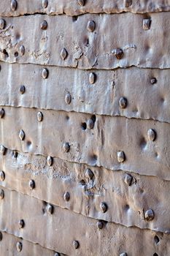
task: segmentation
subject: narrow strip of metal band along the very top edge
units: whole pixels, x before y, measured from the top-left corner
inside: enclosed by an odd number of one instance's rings
[[[15,10],[11,8],[11,1],[1,0],[0,15],[17,16],[24,14],[34,14],[37,12],[47,14],[81,15],[83,13],[114,13],[114,12],[161,12],[170,10],[169,0],[53,0],[53,1],[35,1],[23,0],[17,1]]]

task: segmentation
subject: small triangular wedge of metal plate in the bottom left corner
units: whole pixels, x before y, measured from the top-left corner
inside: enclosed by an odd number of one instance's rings
[[[0,241],[0,252],[1,256],[55,256],[55,252],[46,249],[39,244],[33,244],[29,241],[23,240],[22,238],[18,238],[16,236],[12,236],[8,233],[1,232],[1,241]],[[17,244],[22,244],[22,249],[20,252],[17,250]],[[60,254],[63,256],[62,254]],[[59,255],[56,255],[59,256]]]

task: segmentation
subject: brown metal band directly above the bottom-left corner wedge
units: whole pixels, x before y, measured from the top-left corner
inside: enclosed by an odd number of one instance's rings
[[[169,235],[139,228],[127,228],[82,217],[66,209],[53,208],[47,213],[47,203],[34,197],[4,189],[4,200],[0,202],[1,230],[15,236],[34,241],[49,249],[67,255],[169,255]],[[10,205],[9,205],[10,201]],[[25,226],[18,228],[18,220]],[[46,232],[48,230],[48,232]],[[77,243],[76,243],[77,241]],[[133,246],[129,246],[132,245]],[[76,249],[76,245],[78,248]],[[148,245],[148,246],[147,246]]]

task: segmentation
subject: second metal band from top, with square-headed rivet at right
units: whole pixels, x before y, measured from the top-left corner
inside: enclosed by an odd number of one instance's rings
[[[5,18],[0,59],[80,69],[169,68],[167,20],[169,12]]]

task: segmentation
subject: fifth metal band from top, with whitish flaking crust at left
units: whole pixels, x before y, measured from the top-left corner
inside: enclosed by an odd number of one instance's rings
[[[0,170],[5,177],[1,186],[61,208],[127,227],[170,230],[169,181],[58,158],[49,166],[45,157],[19,153],[15,158],[9,150],[0,157]],[[34,189],[29,181],[34,181]],[[102,202],[106,212],[101,209]],[[154,214],[150,222],[146,219],[148,210]]]

